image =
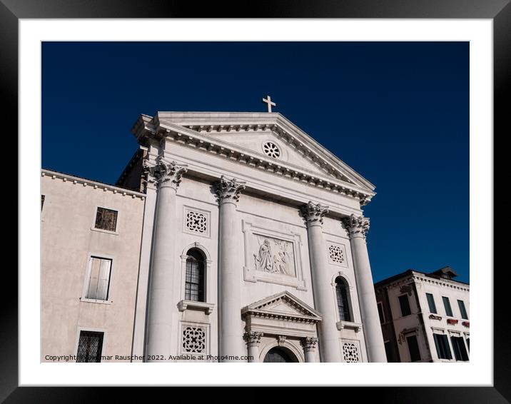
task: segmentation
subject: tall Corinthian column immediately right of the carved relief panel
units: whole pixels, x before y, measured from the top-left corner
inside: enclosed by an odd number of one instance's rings
[[[332,296],[332,280],[328,274],[326,246],[323,239],[323,216],[328,206],[309,201],[301,208],[307,222],[307,236],[310,256],[310,269],[313,276],[313,295],[315,308],[323,315],[318,325],[319,348],[322,362],[340,362],[339,331],[335,326],[337,317],[335,301]]]

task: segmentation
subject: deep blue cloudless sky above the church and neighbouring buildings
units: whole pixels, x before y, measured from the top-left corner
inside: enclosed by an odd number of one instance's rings
[[[469,281],[468,42],[44,42],[42,166],[114,183],[140,113],[265,111],[375,184],[373,278]]]

